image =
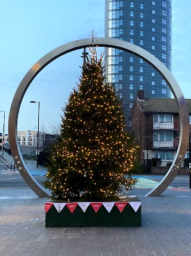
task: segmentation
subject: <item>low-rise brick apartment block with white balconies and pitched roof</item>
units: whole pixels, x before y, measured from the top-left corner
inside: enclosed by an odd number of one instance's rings
[[[191,125],[191,100],[187,99],[186,103]],[[139,91],[131,109],[130,125],[135,141],[140,144],[140,162],[169,167],[180,138],[180,119],[175,99],[144,98],[144,92]],[[189,151],[185,158],[189,158]]]

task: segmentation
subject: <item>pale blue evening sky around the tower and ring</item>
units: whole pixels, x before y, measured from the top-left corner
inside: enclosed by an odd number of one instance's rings
[[[161,1],[161,0],[158,0]],[[0,110],[5,134],[14,94],[30,68],[45,54],[70,41],[104,37],[104,0],[0,0]],[[191,1],[172,0],[172,75],[191,98]],[[36,76],[19,110],[18,131],[56,132],[62,107],[79,81],[82,49],[61,56]],[[0,112],[0,132],[4,112]]]

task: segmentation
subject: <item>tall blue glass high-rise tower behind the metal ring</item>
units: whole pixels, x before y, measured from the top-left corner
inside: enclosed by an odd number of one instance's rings
[[[155,55],[171,71],[171,0],[106,0],[105,37],[128,41]],[[138,90],[144,97],[171,98],[165,80],[131,53],[106,48],[106,77],[128,117]]]

